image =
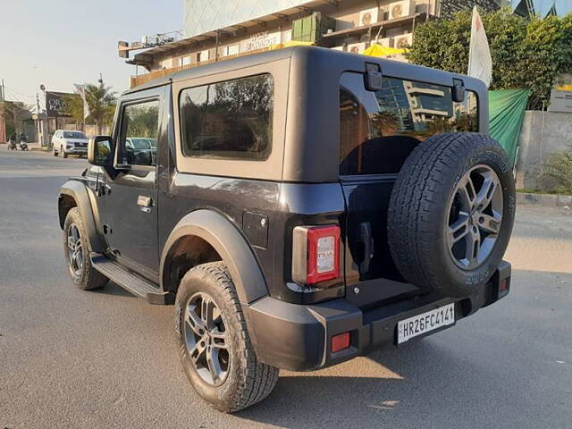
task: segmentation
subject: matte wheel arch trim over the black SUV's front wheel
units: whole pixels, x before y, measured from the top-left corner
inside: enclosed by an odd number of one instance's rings
[[[101,253],[105,250],[104,241],[97,231],[97,223],[93,213],[93,207],[88,194],[88,189],[80,181],[66,181],[60,188],[57,201],[60,228],[63,229],[65,216],[72,207],[80,209],[81,218],[88,233],[89,244],[94,252]]]

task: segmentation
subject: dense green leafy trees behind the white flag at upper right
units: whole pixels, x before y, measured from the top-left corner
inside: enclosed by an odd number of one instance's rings
[[[492,56],[491,89],[529,88],[542,105],[559,73],[572,70],[572,15],[530,21],[509,9],[482,14]],[[471,11],[452,20],[417,26],[408,53],[412,63],[467,73]]]

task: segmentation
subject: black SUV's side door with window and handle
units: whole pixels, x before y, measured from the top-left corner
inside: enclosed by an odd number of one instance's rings
[[[158,272],[156,150],[133,147],[161,133],[164,88],[122,98],[114,130],[114,174],[105,175],[104,231],[116,260],[153,278]]]

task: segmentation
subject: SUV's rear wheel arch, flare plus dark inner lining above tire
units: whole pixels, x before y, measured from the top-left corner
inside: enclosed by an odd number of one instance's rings
[[[179,286],[180,275],[173,273],[172,263],[181,251],[181,240],[194,240],[203,252],[202,257],[192,257],[195,265],[214,260],[224,262],[231,273],[240,303],[248,305],[268,295],[264,275],[248,241],[231,221],[207,209],[182,217],[165,241],[159,268],[164,291],[176,292]]]

